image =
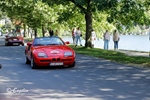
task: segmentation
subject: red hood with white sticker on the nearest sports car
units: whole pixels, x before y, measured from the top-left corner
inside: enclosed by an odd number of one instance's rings
[[[63,54],[66,51],[71,51],[73,52],[73,50],[68,47],[68,46],[37,46],[35,47],[35,50],[37,52],[45,52],[48,56],[51,55],[56,55],[56,54]]]

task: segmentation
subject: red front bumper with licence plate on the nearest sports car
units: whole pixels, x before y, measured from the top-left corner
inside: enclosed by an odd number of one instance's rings
[[[75,62],[75,57],[34,57],[34,62],[37,66],[69,66]]]

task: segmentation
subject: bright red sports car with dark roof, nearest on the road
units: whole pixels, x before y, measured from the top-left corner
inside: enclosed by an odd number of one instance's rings
[[[28,42],[25,49],[26,64],[32,69],[42,66],[75,67],[75,52],[60,37],[38,37]]]

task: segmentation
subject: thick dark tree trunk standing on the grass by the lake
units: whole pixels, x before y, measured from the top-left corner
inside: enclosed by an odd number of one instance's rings
[[[91,32],[92,32],[92,13],[86,12],[86,36],[85,36],[85,47],[92,48]]]

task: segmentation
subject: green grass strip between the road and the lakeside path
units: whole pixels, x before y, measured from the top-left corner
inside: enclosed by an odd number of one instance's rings
[[[76,53],[84,54],[92,57],[103,58],[114,62],[123,64],[135,65],[140,67],[150,68],[150,58],[142,56],[128,56],[125,53],[121,53],[114,50],[103,50],[99,48],[85,48],[81,46],[75,47],[69,45]]]

